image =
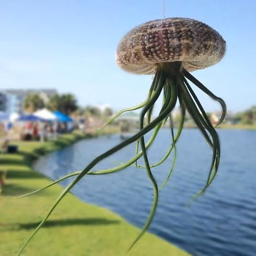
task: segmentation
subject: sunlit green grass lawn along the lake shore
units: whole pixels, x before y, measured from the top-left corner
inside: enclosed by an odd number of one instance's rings
[[[7,180],[0,196],[0,256],[15,256],[35,227],[48,212],[63,188],[59,185],[23,198],[12,198],[43,187],[49,179],[34,172],[33,159],[81,139],[78,133],[63,135],[56,142],[14,142],[17,154],[0,155],[0,170]],[[126,254],[139,234],[117,214],[87,204],[69,193],[56,207],[48,222],[27,245],[27,256],[120,256],[170,255],[188,253],[146,233]]]

